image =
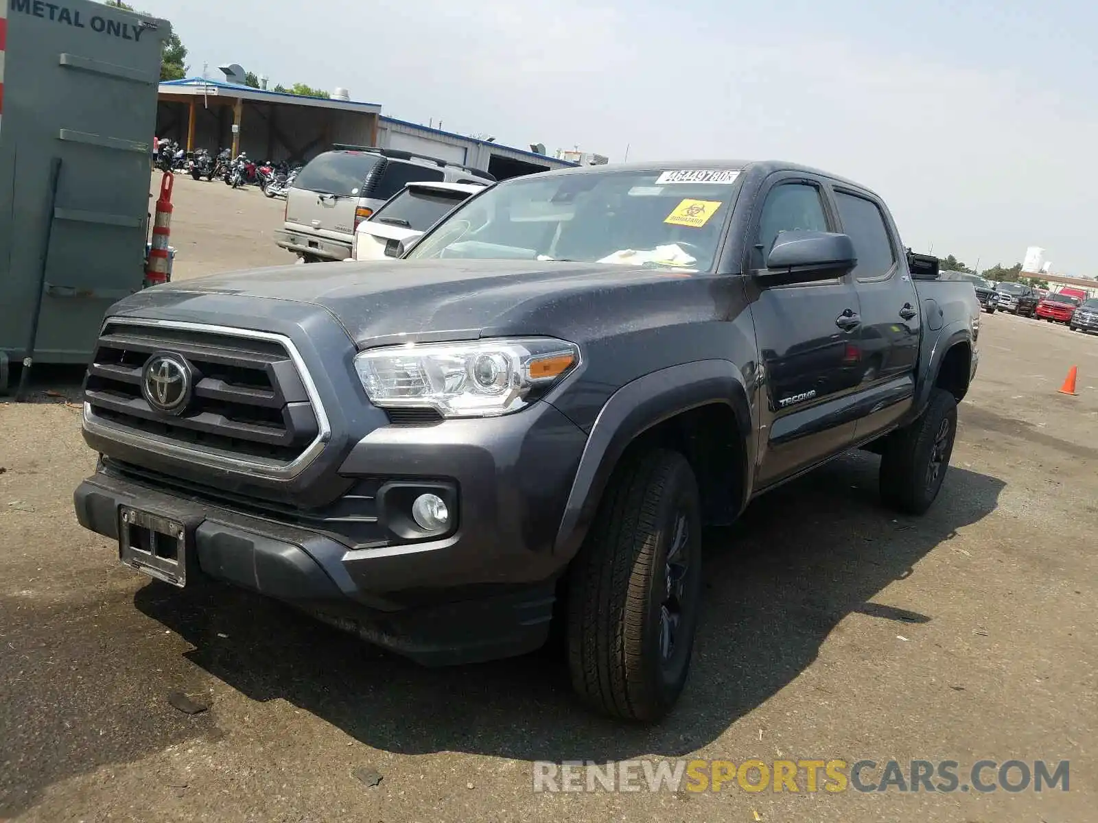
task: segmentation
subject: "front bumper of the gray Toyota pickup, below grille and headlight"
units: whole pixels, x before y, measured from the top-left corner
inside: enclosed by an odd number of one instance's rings
[[[393,517],[383,500],[382,539],[362,544],[213,489],[135,478],[112,461],[80,484],[75,507],[81,526],[113,540],[120,506],[183,522],[197,559],[189,574],[283,600],[417,662],[491,659],[524,654],[548,635],[569,560],[552,544],[585,442],[546,403],[500,418],[374,429],[338,474],[452,484],[457,525],[438,540],[385,534]]]

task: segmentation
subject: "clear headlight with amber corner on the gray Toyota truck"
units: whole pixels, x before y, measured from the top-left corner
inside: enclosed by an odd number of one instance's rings
[[[356,356],[355,370],[374,406],[494,417],[526,407],[579,363],[575,343],[533,337],[384,346]]]

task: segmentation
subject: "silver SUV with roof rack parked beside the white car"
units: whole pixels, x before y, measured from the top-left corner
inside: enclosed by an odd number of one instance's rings
[[[337,145],[298,173],[274,241],[306,263],[346,260],[358,224],[413,182],[493,182],[486,171],[386,148]]]

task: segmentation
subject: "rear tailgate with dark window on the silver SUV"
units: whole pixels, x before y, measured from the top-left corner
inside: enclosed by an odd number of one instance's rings
[[[350,245],[355,207],[366,176],[380,155],[325,151],[298,173],[285,202],[285,228]]]

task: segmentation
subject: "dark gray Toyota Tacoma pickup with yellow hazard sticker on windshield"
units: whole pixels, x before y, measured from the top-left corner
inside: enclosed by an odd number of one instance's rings
[[[427,665],[560,629],[576,691],[653,720],[686,679],[701,535],[855,448],[925,511],[979,307],[879,198],[783,162],[546,172],[403,258],[115,304],[79,521],[123,563],[278,598]]]

